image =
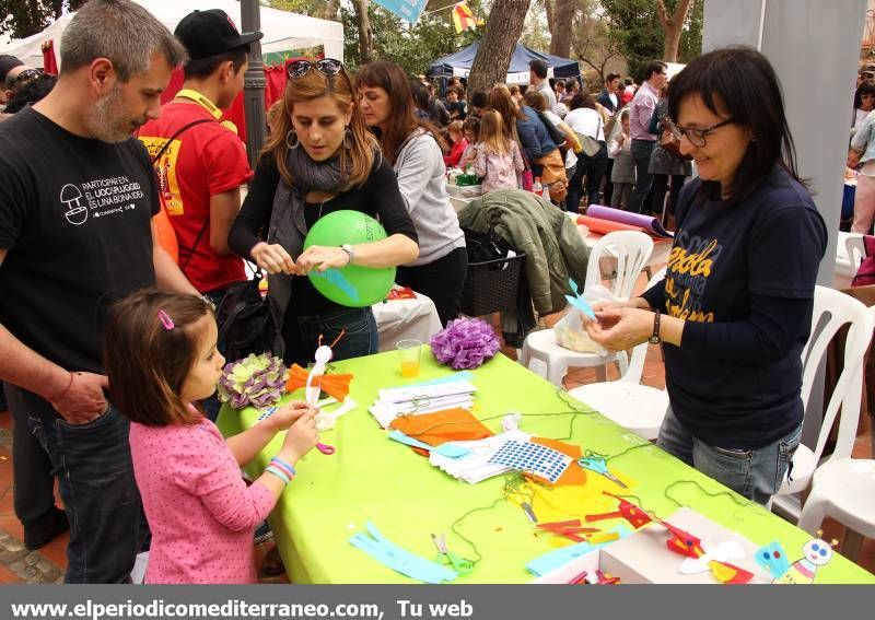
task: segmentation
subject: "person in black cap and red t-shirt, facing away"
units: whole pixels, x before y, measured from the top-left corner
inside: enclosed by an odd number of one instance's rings
[[[240,210],[240,186],[253,176],[236,128],[220,119],[243,89],[249,44],[262,35],[241,34],[219,9],[189,13],[174,34],[188,51],[183,90],[139,138],[158,155],[153,163],[179,242],[179,267],[198,291],[218,300],[246,279],[228,233]]]

